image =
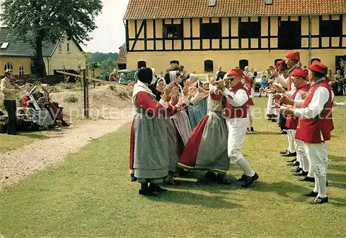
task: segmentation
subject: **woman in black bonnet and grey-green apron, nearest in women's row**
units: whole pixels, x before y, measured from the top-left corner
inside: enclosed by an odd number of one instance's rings
[[[132,96],[136,114],[131,126],[130,173],[133,180],[141,184],[139,194],[158,195],[164,190],[158,185],[167,177],[170,163],[167,123],[163,118],[167,110],[154,101],[155,94],[149,89],[154,79],[152,69],[139,69],[136,76],[138,81]],[[167,87],[163,101],[170,90],[172,88]]]

